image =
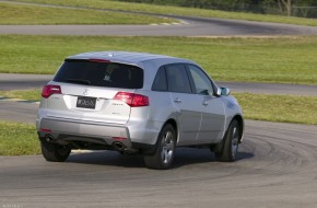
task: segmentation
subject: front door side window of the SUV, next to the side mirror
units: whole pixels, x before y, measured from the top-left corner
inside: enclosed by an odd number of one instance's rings
[[[196,86],[196,93],[204,95],[212,94],[212,84],[207,74],[200,68],[193,65],[188,65],[188,69]]]

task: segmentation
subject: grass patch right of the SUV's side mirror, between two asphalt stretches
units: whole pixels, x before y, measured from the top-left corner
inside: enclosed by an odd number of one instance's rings
[[[317,96],[234,93],[245,118],[317,125]]]

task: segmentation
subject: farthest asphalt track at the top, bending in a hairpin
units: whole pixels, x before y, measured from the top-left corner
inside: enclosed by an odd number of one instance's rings
[[[16,3],[0,0],[0,2]],[[59,5],[43,5],[73,8]],[[104,9],[95,9],[104,10]],[[104,10],[116,11],[116,10]],[[265,23],[240,20],[210,19],[183,15],[150,14],[144,12],[126,12],[144,15],[160,15],[180,20],[179,25],[0,25],[0,34],[28,35],[148,35],[148,36],[266,36],[266,35],[316,35],[316,26]],[[184,24],[185,23],[185,24]]]

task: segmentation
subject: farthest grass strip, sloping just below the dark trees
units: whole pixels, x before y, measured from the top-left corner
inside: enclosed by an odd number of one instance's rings
[[[145,3],[129,3],[129,2],[116,2],[111,0],[19,0],[23,2],[36,2],[47,4],[59,5],[78,5],[90,8],[103,8],[124,11],[142,11],[150,13],[161,14],[179,14],[179,15],[193,15],[193,16],[207,16],[207,18],[224,18],[224,19],[237,19],[237,20],[250,20],[261,22],[278,22],[286,24],[302,24],[317,26],[317,20],[302,19],[302,18],[287,18],[279,15],[262,15],[242,12],[225,12],[218,10],[203,10],[192,8],[180,8],[169,5],[155,5]]]

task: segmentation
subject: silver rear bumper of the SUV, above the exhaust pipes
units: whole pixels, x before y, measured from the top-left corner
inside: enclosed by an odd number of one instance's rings
[[[127,149],[152,148],[155,146],[160,128],[155,129],[152,123],[128,123],[126,125],[86,123],[82,120],[67,120],[42,118],[36,120],[39,139],[48,135],[60,143],[82,141],[95,145],[114,146],[122,143]],[[152,127],[152,128],[149,128]]]

